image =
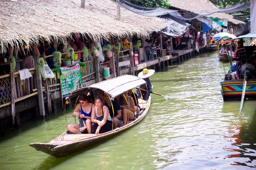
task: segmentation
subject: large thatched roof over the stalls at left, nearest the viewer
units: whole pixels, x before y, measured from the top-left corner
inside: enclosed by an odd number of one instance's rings
[[[24,42],[39,39],[89,35],[94,40],[130,36],[147,36],[167,26],[157,17],[145,17],[121,7],[121,20],[116,20],[113,0],[1,0],[0,42]]]

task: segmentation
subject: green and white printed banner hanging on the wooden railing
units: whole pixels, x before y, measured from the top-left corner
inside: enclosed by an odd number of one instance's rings
[[[71,92],[82,87],[83,81],[79,64],[71,68],[61,68],[62,98],[69,96]]]

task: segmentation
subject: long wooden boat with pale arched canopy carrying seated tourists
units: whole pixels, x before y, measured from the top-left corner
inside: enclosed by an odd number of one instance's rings
[[[105,80],[103,82],[96,83],[89,87],[80,88],[70,94],[70,97],[76,96],[78,94],[101,89],[108,93],[112,98],[122,94],[125,91],[128,91],[132,88],[137,87],[138,85],[144,84],[145,81],[135,76],[124,75],[120,77],[116,77],[113,79]],[[122,127],[117,127],[114,130],[111,130],[106,133],[102,133],[99,135],[95,134],[68,134],[68,132],[62,133],[57,138],[53,139],[49,143],[32,143],[29,146],[34,147],[36,150],[42,151],[49,155],[52,155],[56,158],[61,158],[64,156],[68,156],[70,154],[79,152],[84,150],[94,144],[103,142],[115,136],[125,130],[133,127],[140,121],[142,121],[146,114],[148,113],[148,109],[150,107],[151,96],[149,96],[148,101],[146,103],[140,103],[140,106],[143,106],[144,109],[142,113],[138,116],[137,119],[133,121],[129,121],[129,123]]]

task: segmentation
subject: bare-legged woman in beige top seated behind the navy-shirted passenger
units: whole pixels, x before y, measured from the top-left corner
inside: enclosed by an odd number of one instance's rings
[[[128,91],[125,91],[120,97],[120,106],[122,109],[123,125],[127,124],[127,120],[133,120],[137,116],[137,107],[135,106],[134,99],[128,96]]]

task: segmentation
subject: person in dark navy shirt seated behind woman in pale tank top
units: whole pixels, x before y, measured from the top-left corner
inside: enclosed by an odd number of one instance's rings
[[[122,120],[121,120],[122,109],[118,102],[113,101],[108,97],[108,94],[104,94],[104,101],[105,101],[105,106],[108,107],[109,114],[114,122],[114,129],[115,129],[118,125],[122,124]],[[113,105],[113,109],[112,109],[112,105]],[[114,113],[113,113],[113,110],[114,110]]]

